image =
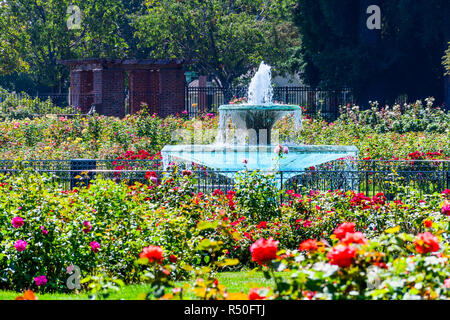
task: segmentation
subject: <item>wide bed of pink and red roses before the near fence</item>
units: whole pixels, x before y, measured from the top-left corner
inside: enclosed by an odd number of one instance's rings
[[[50,177],[33,172],[0,177],[0,287],[65,291],[70,265],[83,276],[106,273],[133,283],[145,269],[134,263],[139,252],[174,265],[174,279],[186,279],[189,266],[213,262],[224,263],[224,270],[270,265],[279,248],[321,253],[344,266],[355,258],[353,246],[365,246],[395,226],[419,235],[411,240],[416,253],[435,252],[432,230],[446,230],[450,219],[442,211],[448,192],[421,196],[413,190],[393,201],[351,191],[287,191],[275,214],[257,208],[260,214],[252,214],[248,199],[259,199],[264,188],[204,194],[196,190],[194,175],[172,170],[156,183],[150,172],[145,184],[96,179],[74,190],[55,188]],[[255,244],[260,239],[267,240]],[[341,247],[325,254],[335,240]],[[446,250],[446,241],[439,240],[439,250]],[[42,276],[47,282],[37,287],[34,279]]]

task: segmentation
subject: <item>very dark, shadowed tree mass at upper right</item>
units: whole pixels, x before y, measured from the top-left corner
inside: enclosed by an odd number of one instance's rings
[[[443,99],[442,54],[447,0],[298,0],[307,81],[357,100]],[[366,10],[381,8],[382,29],[369,30]],[[446,43],[446,42],[445,42]]]

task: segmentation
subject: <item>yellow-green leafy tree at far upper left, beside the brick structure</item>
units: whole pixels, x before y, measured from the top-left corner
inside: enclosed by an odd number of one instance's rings
[[[82,11],[81,29],[68,29],[67,8],[71,4],[78,5]],[[120,58],[127,52],[127,43],[121,34],[125,12],[120,1],[6,0],[2,17],[8,23],[0,23],[0,49],[7,50],[10,43],[20,45],[6,54],[9,58],[6,61],[19,63],[16,67],[10,64],[9,70],[0,70],[0,74],[13,71],[18,76],[24,71],[20,67],[23,62],[24,66],[29,65],[28,76],[53,92],[61,92],[68,78],[67,68],[58,60]],[[19,26],[16,32],[8,30],[12,23]]]

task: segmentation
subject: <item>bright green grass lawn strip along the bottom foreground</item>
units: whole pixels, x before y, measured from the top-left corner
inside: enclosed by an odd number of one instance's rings
[[[264,278],[262,272],[223,272],[219,273],[219,283],[223,284],[228,292],[245,292],[248,293],[252,287],[269,287],[273,286],[272,281]],[[190,281],[193,283],[193,281]],[[183,282],[177,283],[182,286]],[[148,292],[150,286],[145,284],[128,285],[120,288],[118,292],[111,294],[109,300],[135,300],[139,294]],[[11,291],[0,291],[0,300],[14,300],[22,293]],[[87,300],[88,293],[80,294],[37,294],[39,300]],[[186,298],[193,298],[187,296]]]

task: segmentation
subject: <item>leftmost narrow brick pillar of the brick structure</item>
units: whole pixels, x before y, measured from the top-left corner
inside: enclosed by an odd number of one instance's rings
[[[93,99],[93,72],[70,71],[70,104],[88,113],[94,102]]]

